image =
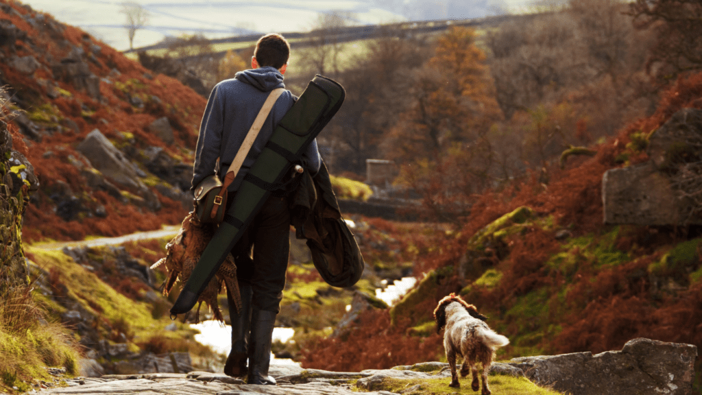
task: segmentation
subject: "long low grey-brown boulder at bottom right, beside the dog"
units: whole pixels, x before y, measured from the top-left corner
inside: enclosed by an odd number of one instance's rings
[[[571,395],[689,395],[697,347],[633,339],[621,351],[514,358],[536,384]]]

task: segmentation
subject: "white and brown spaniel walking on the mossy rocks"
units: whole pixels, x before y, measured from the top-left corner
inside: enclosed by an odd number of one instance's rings
[[[480,315],[475,306],[466,303],[456,294],[450,294],[439,301],[434,310],[434,319],[437,321],[437,333],[446,327],[444,349],[451,368],[449,387],[461,387],[456,373],[456,358],[461,356],[461,377],[467,376],[470,369],[473,375],[473,391],[477,391],[480,384],[476,363],[482,363],[482,395],[489,395],[487,374],[495,349],[509,344],[509,339],[491,330],[484,322],[486,317]]]

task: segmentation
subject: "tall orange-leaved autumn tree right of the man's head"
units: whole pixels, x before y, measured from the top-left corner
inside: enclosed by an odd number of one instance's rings
[[[475,141],[499,117],[493,89],[475,32],[453,27],[414,73],[414,103],[392,128],[388,155],[401,162],[434,159],[453,143]]]

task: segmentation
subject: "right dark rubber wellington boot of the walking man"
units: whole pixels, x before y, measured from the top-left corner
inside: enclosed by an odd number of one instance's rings
[[[251,313],[251,344],[249,345],[249,378],[247,384],[275,385],[268,375],[270,346],[275,326],[274,311],[254,309]]]

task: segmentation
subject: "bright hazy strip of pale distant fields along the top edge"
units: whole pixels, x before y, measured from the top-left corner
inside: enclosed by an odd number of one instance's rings
[[[475,4],[519,8],[533,0],[133,0],[150,17],[138,30],[134,47],[156,44],[165,37],[204,34],[208,38],[231,37],[242,32],[304,32],[311,30],[319,13],[348,11],[361,25],[417,18],[418,10],[453,8],[468,10]],[[129,48],[121,13],[124,0],[25,0],[34,10],[50,13],[60,22],[80,27],[120,51]],[[404,4],[403,4],[404,2]],[[458,4],[458,7],[456,7]],[[472,10],[472,8],[471,8]],[[265,17],[263,16],[265,15]],[[463,17],[464,15],[458,15]],[[470,15],[473,17],[474,15]],[[481,17],[485,15],[475,15]]]

